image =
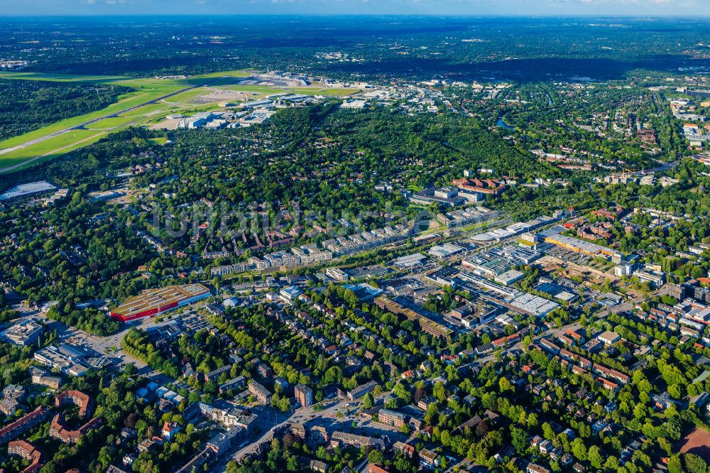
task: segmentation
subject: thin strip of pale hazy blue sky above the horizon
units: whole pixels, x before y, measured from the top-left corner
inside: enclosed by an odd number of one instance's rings
[[[3,15],[710,15],[710,0],[0,0]]]

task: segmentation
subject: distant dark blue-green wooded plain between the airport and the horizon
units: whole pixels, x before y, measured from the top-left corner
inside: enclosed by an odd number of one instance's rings
[[[126,18],[6,21],[10,58],[74,74],[195,74],[214,67],[312,71],[346,80],[505,77],[620,79],[633,70],[708,65],[704,18],[229,17],[136,24]],[[80,36],[77,31],[81,31]],[[520,32],[527,31],[525,41]],[[219,40],[214,40],[219,38]],[[297,38],[297,40],[294,40]],[[51,45],[50,45],[51,44]],[[50,45],[50,46],[49,46]],[[131,54],[127,55],[126,50]],[[184,52],[189,50],[190,54]],[[336,56],[328,58],[326,53]]]

